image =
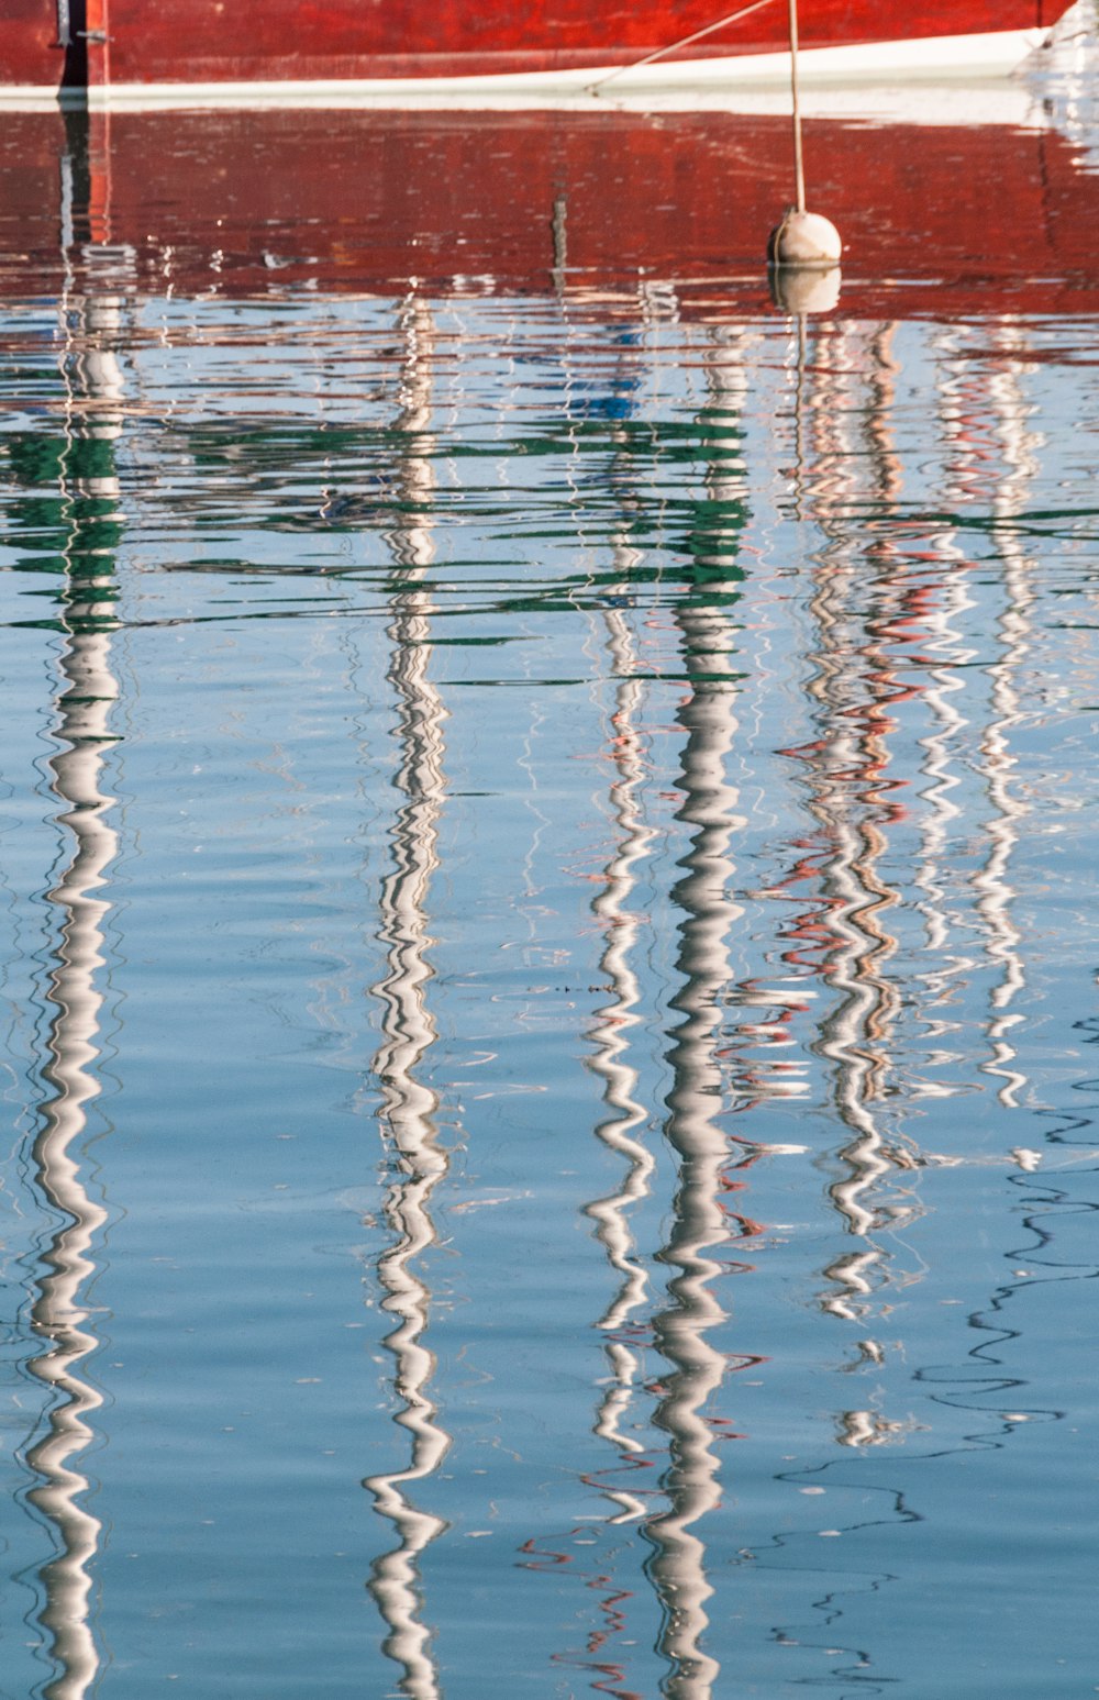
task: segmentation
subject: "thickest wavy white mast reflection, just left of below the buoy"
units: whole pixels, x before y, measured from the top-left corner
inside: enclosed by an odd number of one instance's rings
[[[663,1610],[658,1646],[670,1663],[662,1685],[669,1700],[709,1700],[721,1674],[716,1659],[703,1649],[713,1586],[698,1525],[721,1503],[713,1428],[704,1413],[726,1368],[725,1353],[708,1336],[726,1319],[713,1289],[721,1263],[709,1255],[730,1238],[721,1207],[730,1153],[716,1124],[723,1108],[716,1051],[732,978],[728,930],[740,915],[730,898],[730,842],[743,824],[737,789],[728,780],[737,733],[735,627],[721,605],[728,600],[737,561],[733,522],[745,490],[738,440],[745,376],[735,333],[716,338],[706,379],[709,405],[703,418],[711,457],[706,495],[715,518],[706,534],[696,537],[701,586],[682,593],[675,614],[689,683],[689,697],[677,716],[686,733],[677,818],[692,836],[674,891],[682,921],[680,986],[672,1008],[680,1018],[669,1051],[672,1086],[665,1132],[679,1161],[679,1187],[672,1229],[658,1253],[674,1273],[670,1304],[653,1318],[655,1345],[670,1367],[653,1413],[655,1426],[670,1440],[663,1477],[669,1510],[645,1523],[655,1549],[648,1572]]]

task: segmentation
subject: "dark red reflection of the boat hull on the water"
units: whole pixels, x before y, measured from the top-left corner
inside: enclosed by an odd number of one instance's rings
[[[61,292],[68,226],[70,269],[90,243],[148,298],[556,294],[636,320],[663,286],[682,314],[728,320],[766,304],[791,177],[784,121],[715,112],[66,122],[0,128],[0,296]],[[847,246],[840,313],[1099,311],[1099,177],[1058,133],[815,121],[806,156]]]

